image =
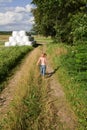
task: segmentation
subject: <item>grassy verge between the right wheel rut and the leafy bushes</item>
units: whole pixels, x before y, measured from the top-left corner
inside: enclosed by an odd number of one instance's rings
[[[62,84],[66,97],[78,117],[78,129],[86,130],[87,83],[86,80],[78,80],[79,73],[75,71],[74,58],[72,54],[70,55],[70,52],[72,53],[73,49],[76,50],[77,47],[73,48],[64,44],[48,44],[47,48],[53,67],[56,68],[56,66],[60,66],[56,76]],[[69,66],[71,68],[69,68]]]

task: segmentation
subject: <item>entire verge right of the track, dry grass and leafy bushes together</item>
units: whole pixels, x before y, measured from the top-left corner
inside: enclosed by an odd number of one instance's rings
[[[64,46],[50,44],[48,53],[51,55],[53,66],[60,66],[57,76],[62,84],[66,97],[78,117],[78,129],[87,129],[87,45]],[[59,49],[60,48],[60,49]],[[63,50],[67,53],[58,53]]]

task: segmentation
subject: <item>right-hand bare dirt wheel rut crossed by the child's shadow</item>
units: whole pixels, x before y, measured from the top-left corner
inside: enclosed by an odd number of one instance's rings
[[[43,45],[42,50],[46,50],[46,46]],[[63,130],[77,130],[77,117],[71,109],[70,104],[66,99],[66,95],[63,91],[62,86],[56,79],[55,73],[58,71],[58,67],[55,70],[52,69],[48,55],[48,66],[47,66],[47,86],[51,90],[51,98],[54,100],[54,107],[56,115],[60,119],[63,125]]]

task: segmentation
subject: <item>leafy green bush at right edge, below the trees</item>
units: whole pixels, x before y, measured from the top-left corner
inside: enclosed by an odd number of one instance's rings
[[[87,45],[79,45],[69,50],[62,60],[70,75],[77,81],[87,80]]]

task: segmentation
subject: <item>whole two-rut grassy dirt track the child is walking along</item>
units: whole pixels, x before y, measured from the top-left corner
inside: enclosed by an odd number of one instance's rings
[[[52,43],[50,38],[37,37],[36,40]],[[46,79],[39,75],[36,66],[43,50],[53,67],[52,71],[48,67],[50,75]],[[79,116],[69,100],[73,91],[68,86],[73,84],[60,60],[60,56],[66,54],[67,47],[62,44],[42,45],[31,52],[7,86],[9,91],[2,93],[7,101],[0,108],[0,130],[85,130],[85,126],[78,125]]]

